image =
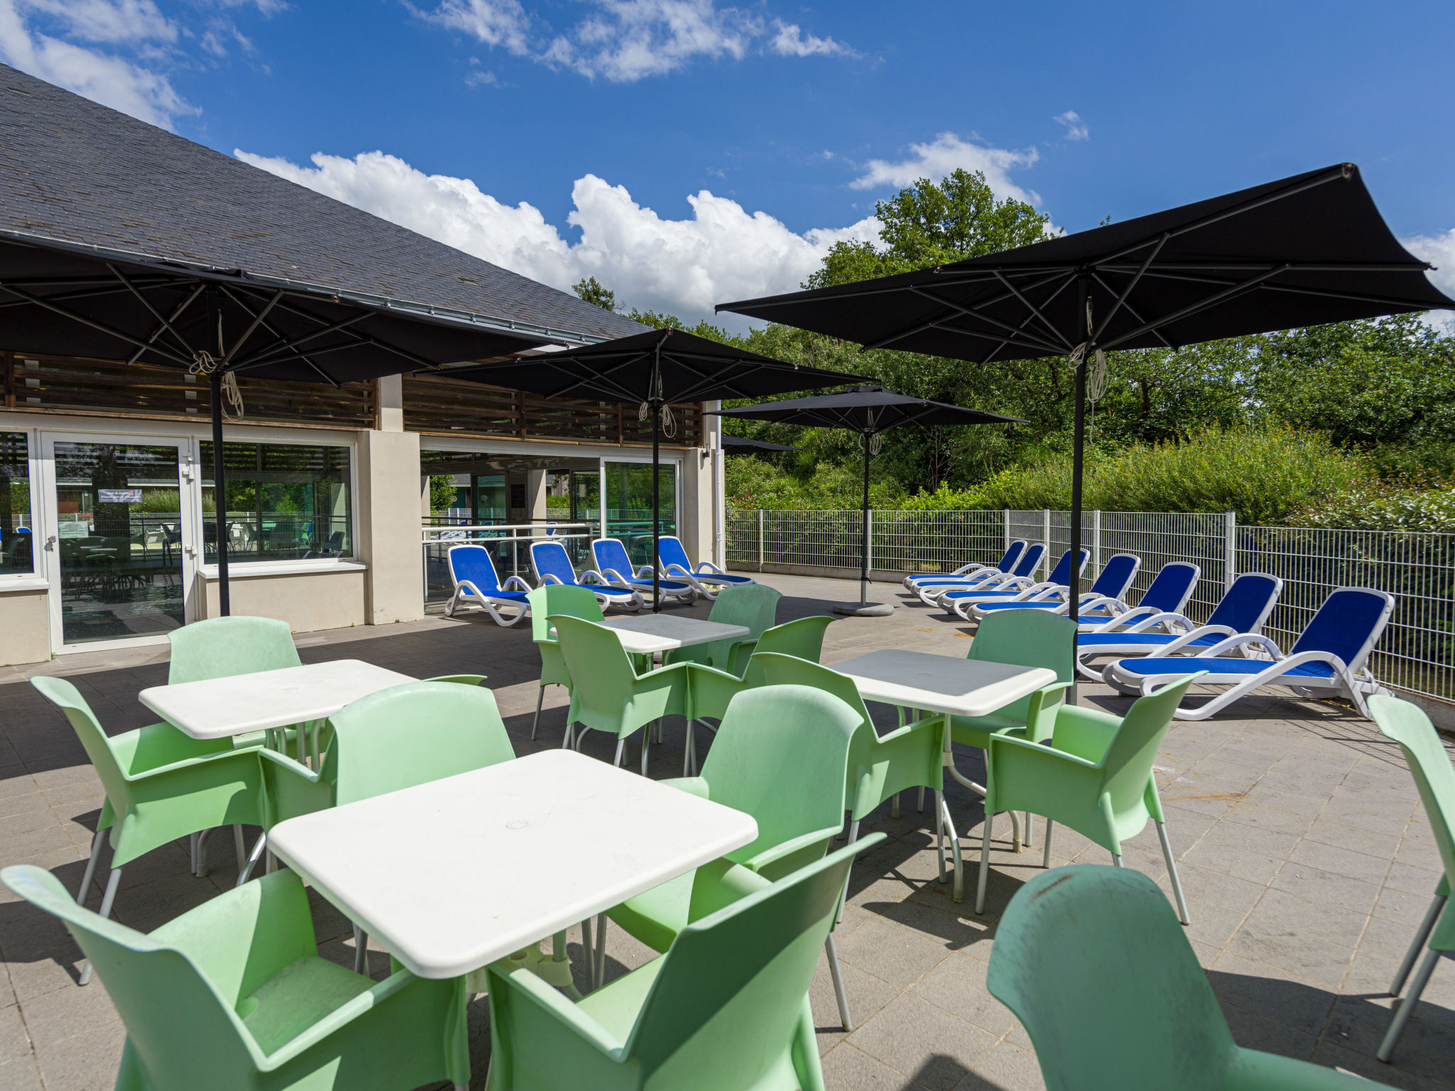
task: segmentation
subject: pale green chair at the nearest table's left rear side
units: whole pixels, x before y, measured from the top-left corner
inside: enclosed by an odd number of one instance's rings
[[[260,751],[268,823],[239,886],[266,848],[266,831],[279,822],[515,758],[495,694],[450,678],[380,690],[342,708],[332,723],[333,738],[317,771],[284,754]],[[368,935],[358,925],[354,943],[354,969],[361,972]]]

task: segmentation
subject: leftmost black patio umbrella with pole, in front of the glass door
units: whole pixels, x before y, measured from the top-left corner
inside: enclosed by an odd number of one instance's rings
[[[105,253],[0,233],[0,313],[9,346],[57,356],[124,358],[207,378],[217,495],[218,607],[230,612],[224,400],[234,377],[335,387],[549,343],[442,317],[399,301],[367,301],[313,285]]]

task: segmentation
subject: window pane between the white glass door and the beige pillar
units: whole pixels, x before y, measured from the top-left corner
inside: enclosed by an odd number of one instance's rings
[[[349,448],[223,444],[228,560],[351,557]],[[202,544],[217,560],[212,444],[202,444]]]

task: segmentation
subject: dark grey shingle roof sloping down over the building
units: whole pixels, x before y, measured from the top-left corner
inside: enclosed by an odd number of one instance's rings
[[[642,326],[0,65],[0,234],[591,342]]]

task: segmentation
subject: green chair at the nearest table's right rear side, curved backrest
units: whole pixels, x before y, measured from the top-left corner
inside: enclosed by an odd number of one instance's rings
[[[844,825],[844,783],[858,713],[818,688],[751,690],[723,717],[700,777],[665,781],[675,788],[752,815],[758,836],[726,860],[778,879],[828,852]],[[655,951],[665,951],[691,921],[693,874],[637,895],[607,912]],[[599,921],[597,975],[605,970],[605,919]],[[825,944],[844,1030],[853,1030],[834,937]]]

